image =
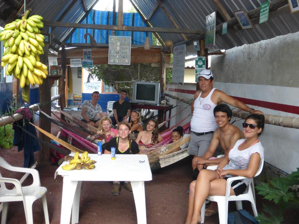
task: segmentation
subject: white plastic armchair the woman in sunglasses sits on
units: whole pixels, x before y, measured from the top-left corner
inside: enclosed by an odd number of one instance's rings
[[[264,159],[260,162],[259,168],[257,170],[257,173],[254,175],[254,177],[258,176],[264,165]],[[209,170],[216,170],[217,165],[215,166],[208,166],[207,169]],[[219,213],[219,224],[227,224],[227,218],[228,218],[228,202],[229,201],[236,201],[237,210],[242,209],[242,201],[247,200],[251,202],[251,207],[254,213],[254,217],[257,217],[257,208],[255,204],[255,195],[254,195],[254,183],[253,179],[248,184],[247,189],[243,194],[240,194],[238,196],[236,195],[229,195],[231,190],[231,183],[235,180],[245,179],[246,177],[230,177],[226,181],[226,191],[225,196],[208,196],[208,200],[215,201],[218,204],[218,213]],[[201,209],[201,217],[202,221],[201,223],[205,222],[205,203],[202,205]]]

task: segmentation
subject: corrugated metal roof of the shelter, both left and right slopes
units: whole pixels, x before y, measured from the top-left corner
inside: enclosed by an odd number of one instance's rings
[[[19,5],[24,3],[22,0],[17,1],[19,2]],[[11,2],[11,5],[9,5],[7,1],[0,0],[0,25],[4,26],[4,19],[9,16],[7,15],[7,12],[13,9],[12,4],[16,4],[17,1],[13,1],[15,3]],[[97,0],[86,0],[87,9],[90,9],[96,1]],[[149,16],[157,2],[156,0],[133,1],[146,17]],[[260,4],[265,1],[266,0],[219,0],[231,18],[234,17],[234,11],[243,8],[246,11],[250,11],[260,7]],[[212,0],[164,0],[162,3],[180,28],[204,29],[205,17],[210,13],[217,11],[217,7]],[[68,12],[65,12],[70,5],[72,6],[71,9]],[[32,8],[33,11],[31,14],[42,15],[46,21],[57,21],[62,17],[61,22],[75,23],[79,22],[85,15],[81,0],[28,0],[28,3],[26,2],[26,8]],[[149,22],[153,27],[175,28],[161,7],[157,8]],[[225,22],[224,19],[217,13],[216,25],[221,24],[222,22]],[[228,29],[228,33],[225,35],[216,34],[215,46],[210,47],[209,52],[219,49],[230,49],[232,47],[270,39],[275,36],[298,32],[298,24],[299,13],[285,13],[269,19],[268,22],[255,24],[253,29],[239,30],[237,33],[234,29]],[[51,30],[51,35],[58,41],[64,42],[71,30],[71,28],[55,27]],[[184,41],[181,34],[159,33],[159,36],[164,41],[168,39],[173,40],[174,43]],[[59,46],[58,44],[53,45],[55,47]],[[186,48],[186,56],[190,55],[196,55],[196,51],[193,50],[193,45],[189,45]]]

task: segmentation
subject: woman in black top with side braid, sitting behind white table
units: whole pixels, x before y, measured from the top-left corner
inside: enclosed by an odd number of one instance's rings
[[[111,139],[104,147],[104,154],[111,153],[111,147],[115,147],[115,154],[138,154],[139,147],[135,141],[130,139],[129,134],[131,133],[130,125],[122,121],[118,124],[118,135],[119,137]],[[130,182],[125,182],[125,188],[132,192],[132,186]],[[120,192],[120,181],[113,181],[112,192],[114,196],[119,195]]]

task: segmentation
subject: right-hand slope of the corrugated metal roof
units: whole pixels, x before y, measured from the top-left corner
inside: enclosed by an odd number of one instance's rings
[[[141,12],[147,17],[154,8],[156,0],[133,0]],[[260,7],[260,4],[267,0],[219,0],[231,18],[234,11],[245,9],[250,11]],[[271,1],[270,1],[271,2]],[[162,4],[171,14],[180,28],[198,29],[205,28],[205,18],[210,13],[217,11],[216,5],[211,0],[164,0]],[[150,21],[154,27],[174,27],[161,7],[155,11]],[[225,22],[217,14],[216,25]],[[216,34],[215,46],[209,48],[209,52],[220,49],[230,49],[232,47],[251,44],[275,36],[285,35],[299,31],[299,13],[286,13],[262,24],[255,24],[253,29],[239,30],[235,33],[234,29],[228,29],[225,35]],[[159,33],[164,40],[171,39],[174,43],[184,41],[180,34]],[[186,56],[196,55],[193,46],[188,46]]]

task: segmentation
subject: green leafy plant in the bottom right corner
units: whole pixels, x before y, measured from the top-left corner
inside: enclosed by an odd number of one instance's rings
[[[257,220],[260,224],[280,224],[284,221],[283,210],[299,208],[299,168],[287,177],[277,177],[268,183],[260,183],[256,186],[258,194],[264,196],[264,199],[272,201],[277,205],[273,206],[263,204],[262,214],[258,214]],[[265,214],[266,213],[266,214]]]

